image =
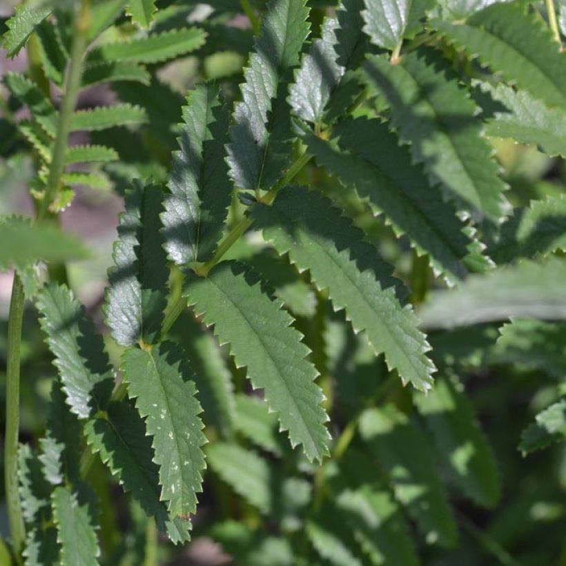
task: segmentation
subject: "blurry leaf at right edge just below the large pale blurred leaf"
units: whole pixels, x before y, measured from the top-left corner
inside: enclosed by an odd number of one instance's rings
[[[534,367],[561,379],[566,375],[566,323],[516,319],[503,324],[489,362]]]

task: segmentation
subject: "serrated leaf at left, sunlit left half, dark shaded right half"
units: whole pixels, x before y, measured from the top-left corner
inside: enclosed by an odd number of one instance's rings
[[[49,284],[39,291],[37,308],[70,410],[80,418],[104,410],[114,372],[84,306],[66,286]]]

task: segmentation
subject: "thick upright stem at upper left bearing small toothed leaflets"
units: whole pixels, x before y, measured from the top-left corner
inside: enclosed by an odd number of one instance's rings
[[[53,202],[59,190],[61,175],[65,168],[65,153],[67,150],[68,136],[72,113],[77,106],[79,87],[81,85],[82,59],[87,45],[87,32],[90,24],[90,2],[83,0],[79,16],[75,23],[75,36],[72,39],[70,64],[65,83],[65,95],[59,110],[57,122],[57,135],[53,146],[53,155],[47,177],[47,184],[43,200],[39,205],[37,219],[46,217],[49,206]]]

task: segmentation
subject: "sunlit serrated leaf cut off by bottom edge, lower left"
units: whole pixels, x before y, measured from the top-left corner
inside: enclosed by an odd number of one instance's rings
[[[57,542],[61,545],[61,566],[97,565],[100,554],[96,534],[95,509],[86,486],[72,490],[56,487],[52,494],[53,520],[57,525]]]

